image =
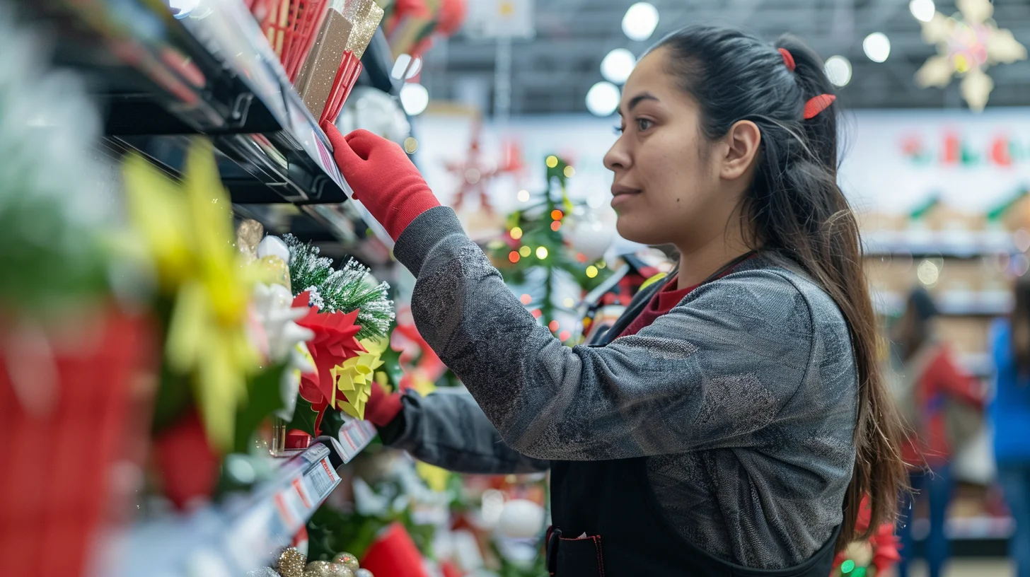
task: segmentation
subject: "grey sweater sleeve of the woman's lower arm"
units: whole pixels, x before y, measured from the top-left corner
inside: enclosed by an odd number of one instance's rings
[[[539,473],[550,462],[530,459],[501,440],[497,430],[468,393],[437,389],[424,398],[401,397],[401,413],[379,429],[383,443],[418,461],[456,473],[509,475]]]

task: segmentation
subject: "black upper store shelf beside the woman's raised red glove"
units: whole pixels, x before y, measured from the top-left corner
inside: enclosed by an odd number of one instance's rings
[[[331,144],[240,0],[202,0],[179,14],[156,0],[41,0],[25,10],[54,29],[56,62],[85,76],[105,111],[108,152],[137,150],[177,174],[188,136],[205,134],[238,214],[293,203],[302,237],[354,240]],[[377,31],[359,81],[396,93],[389,55]]]

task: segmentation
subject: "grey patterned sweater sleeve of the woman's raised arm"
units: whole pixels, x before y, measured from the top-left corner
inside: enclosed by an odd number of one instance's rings
[[[394,253],[417,277],[419,333],[525,455],[754,446],[756,432],[792,418],[781,410],[810,369],[812,312],[775,271],[731,274],[637,335],[570,348],[525,310],[449,208],[418,216]]]

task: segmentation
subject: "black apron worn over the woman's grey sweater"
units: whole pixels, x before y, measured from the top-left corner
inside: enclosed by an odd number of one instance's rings
[[[722,276],[736,259],[708,280]],[[708,281],[706,280],[706,282]],[[591,346],[615,340],[666,281],[641,291]],[[551,466],[547,569],[555,577],[705,575],[714,577],[827,577],[839,527],[811,558],[784,570],[749,569],[718,558],[679,536],[647,478],[647,457],[556,461]]]

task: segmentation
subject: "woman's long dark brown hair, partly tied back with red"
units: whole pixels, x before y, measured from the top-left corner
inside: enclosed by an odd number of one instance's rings
[[[746,231],[754,247],[796,262],[833,298],[851,334],[858,370],[856,459],[843,504],[837,550],[893,522],[907,478],[899,451],[900,420],[880,373],[880,335],[869,300],[858,224],[837,186],[836,105],[802,120],[804,102],[833,87],[818,55],[792,36],[776,44],[732,29],[688,27],[666,36],[666,69],[697,102],[701,130],[712,141],[748,120],[761,131],[755,177],[745,199]],[[778,52],[793,56],[788,70]],[[868,530],[855,522],[864,497]]]

